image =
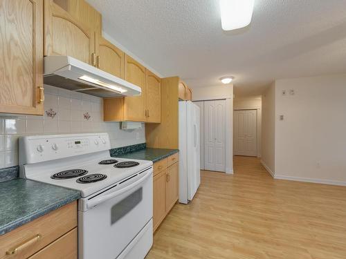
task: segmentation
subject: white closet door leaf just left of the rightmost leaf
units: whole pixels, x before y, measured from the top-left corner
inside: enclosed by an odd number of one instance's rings
[[[215,170],[215,101],[204,102],[204,169]]]

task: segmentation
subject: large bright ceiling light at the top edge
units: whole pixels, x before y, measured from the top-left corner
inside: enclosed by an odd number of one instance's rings
[[[248,26],[253,16],[255,0],[219,0],[223,30],[235,30]]]

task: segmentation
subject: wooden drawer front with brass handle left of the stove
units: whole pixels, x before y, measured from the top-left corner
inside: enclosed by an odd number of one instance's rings
[[[0,259],[28,258],[75,227],[77,201],[0,236]]]

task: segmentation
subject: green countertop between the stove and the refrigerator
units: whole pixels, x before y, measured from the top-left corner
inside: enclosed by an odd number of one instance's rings
[[[116,155],[116,157],[132,158],[138,160],[151,160],[153,163],[155,163],[178,152],[178,149],[145,148],[130,153]]]

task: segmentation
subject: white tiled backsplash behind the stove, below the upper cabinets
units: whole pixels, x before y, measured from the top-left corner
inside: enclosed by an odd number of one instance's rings
[[[107,132],[112,148],[145,142],[145,124],[134,131],[122,131],[119,122],[103,122],[102,98],[53,86],[44,86],[44,97],[44,116],[0,115],[0,169],[18,164],[21,135]],[[46,114],[50,109],[55,117]],[[89,119],[84,118],[86,113]]]

